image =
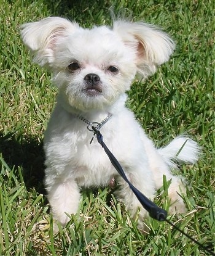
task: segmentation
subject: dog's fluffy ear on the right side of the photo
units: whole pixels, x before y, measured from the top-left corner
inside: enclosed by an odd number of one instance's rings
[[[136,54],[137,72],[146,78],[174,51],[174,42],[165,32],[143,22],[115,21],[113,30]]]

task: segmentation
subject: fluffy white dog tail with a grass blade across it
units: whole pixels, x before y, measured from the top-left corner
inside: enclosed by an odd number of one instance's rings
[[[173,139],[166,147],[158,149],[158,153],[171,168],[176,168],[179,162],[197,162],[200,152],[197,142],[182,136]]]

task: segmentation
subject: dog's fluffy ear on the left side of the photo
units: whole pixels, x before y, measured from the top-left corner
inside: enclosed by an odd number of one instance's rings
[[[23,43],[34,55],[37,64],[52,65],[53,52],[58,39],[67,36],[79,25],[60,17],[49,17],[39,22],[31,22],[22,25],[21,37]]]

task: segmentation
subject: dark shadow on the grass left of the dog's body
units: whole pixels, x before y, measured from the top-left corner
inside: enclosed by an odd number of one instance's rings
[[[36,138],[26,138],[23,134],[14,136],[0,133],[0,154],[7,165],[14,171],[22,167],[23,179],[27,189],[35,188],[37,192],[45,194],[44,179],[44,151],[42,143]],[[15,173],[18,178],[18,173]]]

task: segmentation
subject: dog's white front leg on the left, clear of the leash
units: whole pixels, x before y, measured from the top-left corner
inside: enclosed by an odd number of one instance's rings
[[[53,218],[65,226],[69,221],[66,213],[77,213],[79,206],[80,192],[76,181],[56,179],[52,185],[49,184],[47,192]]]

